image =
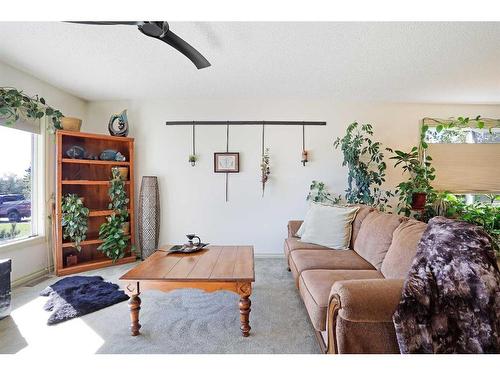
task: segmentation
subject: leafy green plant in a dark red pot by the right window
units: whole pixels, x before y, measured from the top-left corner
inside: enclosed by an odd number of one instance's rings
[[[401,165],[403,174],[408,173],[409,179],[397,186],[399,194],[399,212],[410,215],[411,210],[423,210],[426,207],[427,196],[434,192],[431,181],[436,177],[435,169],[431,165],[432,158],[426,156],[421,160],[418,147],[413,147],[410,152],[394,151],[394,167]]]

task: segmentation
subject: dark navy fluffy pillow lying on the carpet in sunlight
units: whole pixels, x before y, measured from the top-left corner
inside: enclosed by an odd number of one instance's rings
[[[119,286],[104,281],[101,276],[71,276],[59,280],[40,292],[49,300],[43,307],[52,311],[47,324],[57,324],[69,319],[101,310],[128,299]]]

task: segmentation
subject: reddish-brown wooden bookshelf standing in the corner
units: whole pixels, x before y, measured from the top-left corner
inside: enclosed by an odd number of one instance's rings
[[[99,156],[107,149],[122,153],[125,161],[71,159],[66,151],[72,146],[81,146],[87,152]],[[99,227],[105,222],[112,211],[108,209],[108,187],[111,178],[111,168],[115,166],[128,167],[128,180],[125,182],[129,203],[130,243],[135,243],[134,216],[134,139],[128,137],[113,137],[108,135],[58,131],[56,134],[56,220],[55,220],[55,271],[58,276],[90,271],[97,268],[134,262],[136,257],[129,245],[125,257],[115,263],[97,248],[102,243],[99,239]],[[82,250],[78,252],[73,243],[62,237],[61,202],[65,194],[78,194],[84,198],[85,206],[89,208],[89,230],[87,238],[81,243]],[[66,257],[76,254],[78,263],[67,266]]]

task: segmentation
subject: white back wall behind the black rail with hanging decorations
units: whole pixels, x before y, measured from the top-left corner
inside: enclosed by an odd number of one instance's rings
[[[159,177],[161,190],[160,243],[185,240],[196,232],[215,244],[253,244],[258,254],[279,254],[286,222],[302,218],[305,196],[313,179],[331,191],[343,192],[346,169],[332,143],[352,121],[374,125],[375,138],[385,146],[409,149],[418,141],[419,121],[425,116],[500,116],[499,106],[339,103],[325,98],[248,100],[147,100],[91,102],[85,130],[107,133],[112,113],[127,108],[130,136],[136,138],[136,179]],[[229,176],[229,202],[224,201],[224,175],[213,173],[213,152],[225,151],[225,127],[198,126],[196,167],[188,163],[191,127],[167,127],[167,120],[316,120],[327,127],[306,129],[311,162],[303,167],[300,127],[267,127],[271,150],[271,178],[261,197],[260,127],[231,127],[230,151],[240,152],[239,174]],[[389,169],[387,188],[400,181],[400,171]]]

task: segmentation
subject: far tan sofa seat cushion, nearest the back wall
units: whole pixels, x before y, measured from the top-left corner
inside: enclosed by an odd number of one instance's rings
[[[302,271],[324,270],[373,270],[374,267],[353,250],[295,250],[289,258],[295,282]]]

